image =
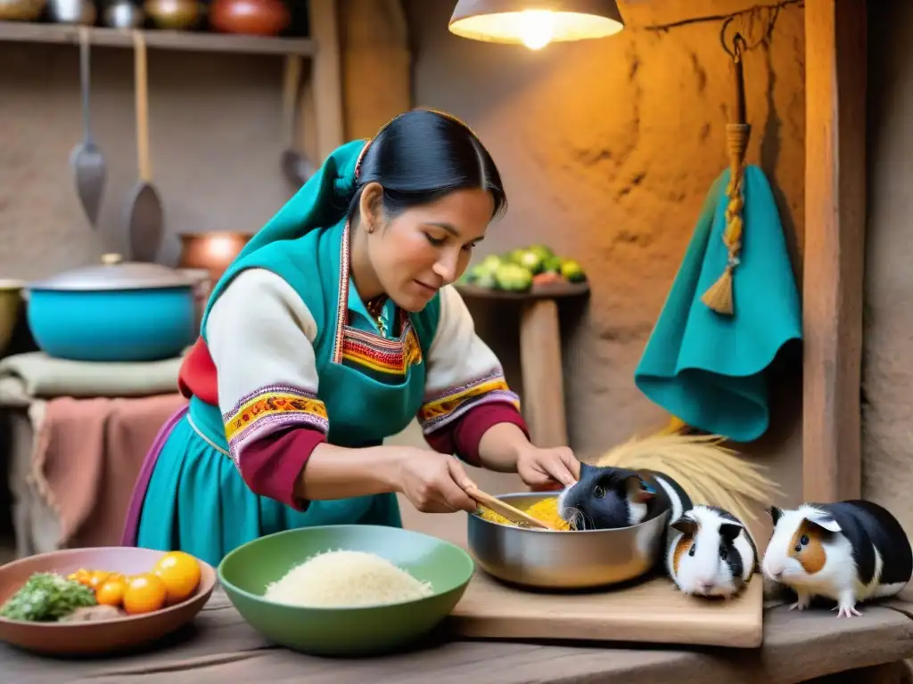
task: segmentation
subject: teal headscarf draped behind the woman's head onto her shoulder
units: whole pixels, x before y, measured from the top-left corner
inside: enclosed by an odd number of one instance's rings
[[[209,295],[203,315],[204,329],[215,299],[236,275],[237,265],[247,256],[268,244],[295,240],[315,228],[330,227],[341,221],[355,192],[358,165],[367,148],[367,140],[352,140],[333,150],[320,169],[247,242]]]

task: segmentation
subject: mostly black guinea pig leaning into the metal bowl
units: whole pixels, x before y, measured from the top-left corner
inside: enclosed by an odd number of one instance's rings
[[[661,472],[582,463],[580,479],[558,497],[558,514],[577,530],[630,527],[671,509],[677,520],[692,507],[687,493]]]

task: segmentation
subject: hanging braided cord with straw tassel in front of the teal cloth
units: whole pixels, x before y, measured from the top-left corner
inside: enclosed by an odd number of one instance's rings
[[[734,313],[732,278],[739,265],[744,229],[742,209],[745,206],[745,195],[742,180],[745,172],[745,150],[748,149],[751,134],[751,127],[745,118],[745,77],[742,72],[742,57],[746,47],[745,38],[737,33],[732,39],[732,52],[729,53],[732,57],[735,102],[732,117],[726,125],[726,148],[729,151],[729,185],[726,187],[726,196],[729,202],[726,205],[723,244],[726,245],[729,258],[719,280],[710,285],[700,298],[706,306],[724,316],[732,316]]]

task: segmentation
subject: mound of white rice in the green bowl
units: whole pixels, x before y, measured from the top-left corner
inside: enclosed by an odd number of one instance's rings
[[[269,601],[289,606],[348,608],[415,601],[433,594],[379,555],[362,551],[328,551],[311,556],[267,586]]]

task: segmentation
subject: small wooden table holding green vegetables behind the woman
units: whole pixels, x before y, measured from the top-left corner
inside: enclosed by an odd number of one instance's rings
[[[523,413],[530,439],[540,447],[567,446],[561,328],[558,300],[590,292],[586,283],[534,285],[529,292],[505,292],[477,285],[457,285],[464,298],[520,302],[519,358],[523,378]]]

